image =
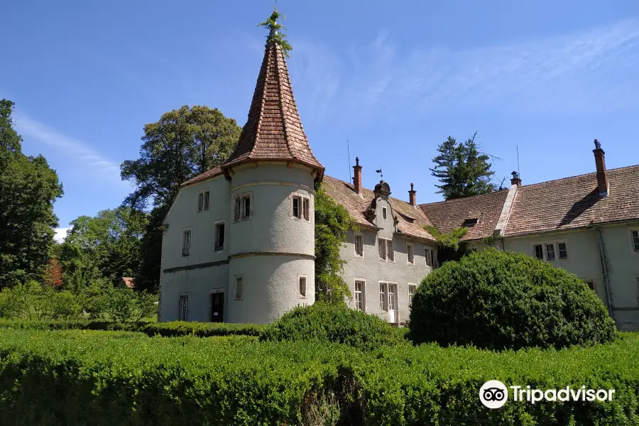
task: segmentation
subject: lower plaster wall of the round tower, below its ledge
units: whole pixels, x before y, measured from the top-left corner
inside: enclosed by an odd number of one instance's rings
[[[243,275],[244,292],[235,300],[235,276]],[[306,275],[306,298],[300,297],[298,275]],[[229,264],[227,322],[264,324],[297,305],[315,302],[315,261],[297,256],[249,256]]]

